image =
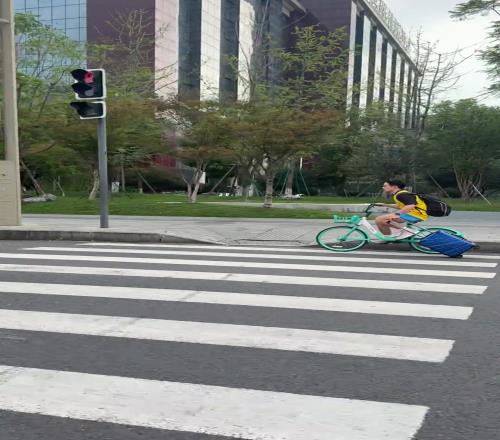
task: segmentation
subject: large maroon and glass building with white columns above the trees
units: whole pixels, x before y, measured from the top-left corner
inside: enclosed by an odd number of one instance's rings
[[[248,99],[251,68],[271,81],[278,75],[259,47],[286,46],[295,26],[344,28],[347,105],[385,102],[402,125],[414,124],[417,68],[383,0],[15,0],[15,7],[83,43],[113,39],[114,17],[142,11],[155,39],[147,63],[156,90],[193,99]]]

